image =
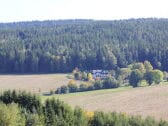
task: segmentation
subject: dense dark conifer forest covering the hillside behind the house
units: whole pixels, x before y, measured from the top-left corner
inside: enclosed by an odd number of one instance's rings
[[[0,72],[117,69],[148,60],[168,71],[168,19],[0,24]]]

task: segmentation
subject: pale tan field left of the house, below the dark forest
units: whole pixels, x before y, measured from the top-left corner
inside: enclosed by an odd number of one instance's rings
[[[43,93],[68,82],[67,74],[0,75],[0,91],[16,89]]]

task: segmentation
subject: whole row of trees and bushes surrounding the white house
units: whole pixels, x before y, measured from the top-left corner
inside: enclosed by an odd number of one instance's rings
[[[70,80],[68,85],[63,85],[56,90],[57,94],[83,92],[101,89],[118,88],[121,86],[148,86],[167,81],[167,72],[153,69],[151,63],[147,60],[128,65],[126,68],[118,68],[109,71],[105,78],[92,78],[91,73],[73,71],[74,79],[82,80],[77,84],[75,80]]]

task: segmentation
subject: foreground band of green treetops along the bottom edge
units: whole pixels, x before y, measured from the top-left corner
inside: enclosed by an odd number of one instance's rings
[[[5,91],[0,101],[0,126],[168,126],[168,122],[151,117],[72,109],[55,99],[42,104],[38,96],[21,91]]]

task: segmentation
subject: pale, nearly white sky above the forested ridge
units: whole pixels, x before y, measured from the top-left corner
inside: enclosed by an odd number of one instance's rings
[[[0,22],[168,18],[168,0],[0,0]]]

